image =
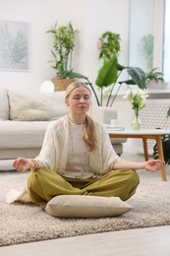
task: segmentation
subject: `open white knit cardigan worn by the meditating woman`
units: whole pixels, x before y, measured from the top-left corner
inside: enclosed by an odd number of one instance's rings
[[[104,174],[110,171],[114,161],[120,160],[115,153],[103,124],[94,120],[98,144],[89,154],[89,169],[92,173]],[[69,151],[69,119],[67,116],[52,121],[47,127],[42,148],[36,160],[45,167],[64,175]]]

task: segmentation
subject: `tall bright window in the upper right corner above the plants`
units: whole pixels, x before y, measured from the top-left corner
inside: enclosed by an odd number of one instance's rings
[[[152,68],[170,82],[170,0],[131,0],[130,66]]]

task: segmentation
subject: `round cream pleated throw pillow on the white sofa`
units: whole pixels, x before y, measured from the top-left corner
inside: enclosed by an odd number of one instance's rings
[[[51,110],[44,102],[26,99],[16,105],[15,115],[21,121],[47,121]]]

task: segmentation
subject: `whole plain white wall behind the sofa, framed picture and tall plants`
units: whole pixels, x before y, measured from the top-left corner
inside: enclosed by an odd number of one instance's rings
[[[128,64],[129,0],[0,0],[0,19],[27,22],[30,26],[30,71],[0,70],[0,87],[15,91],[38,91],[55,71],[51,59],[52,38],[46,33],[56,21],[70,21],[80,31],[75,70],[93,83],[99,68],[97,39],[106,31],[121,34],[120,62]]]

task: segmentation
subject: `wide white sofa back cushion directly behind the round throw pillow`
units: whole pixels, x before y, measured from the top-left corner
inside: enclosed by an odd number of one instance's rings
[[[23,100],[29,99],[34,101],[42,101],[51,109],[50,120],[58,119],[59,117],[66,115],[68,113],[68,108],[65,104],[65,92],[55,92],[48,94],[26,94],[26,93],[16,93],[13,91],[8,91],[9,104],[10,104],[10,119],[19,120],[16,114],[15,107]]]

